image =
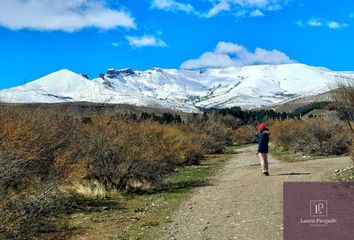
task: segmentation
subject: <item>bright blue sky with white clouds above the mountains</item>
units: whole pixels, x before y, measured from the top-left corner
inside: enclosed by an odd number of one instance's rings
[[[354,71],[352,0],[0,0],[0,89],[60,69]]]

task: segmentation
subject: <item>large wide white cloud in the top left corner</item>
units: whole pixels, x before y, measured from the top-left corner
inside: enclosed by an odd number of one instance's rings
[[[73,32],[83,28],[135,28],[125,10],[111,9],[105,0],[1,0],[0,26],[12,29]]]

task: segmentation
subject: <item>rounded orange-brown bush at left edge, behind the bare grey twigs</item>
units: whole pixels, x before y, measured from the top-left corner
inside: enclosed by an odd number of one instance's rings
[[[2,180],[16,180],[1,185],[19,185],[34,176],[47,179],[58,170],[64,170],[59,166],[67,168],[67,161],[72,161],[77,153],[73,145],[78,144],[79,136],[74,125],[74,120],[48,112],[8,111],[1,114],[1,166],[17,166],[1,169]]]

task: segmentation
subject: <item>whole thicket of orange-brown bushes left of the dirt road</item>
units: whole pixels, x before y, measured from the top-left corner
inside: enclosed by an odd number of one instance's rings
[[[230,144],[220,122],[161,125],[11,106],[0,111],[0,238],[38,238],[68,194],[148,186]],[[65,191],[64,191],[65,190]]]

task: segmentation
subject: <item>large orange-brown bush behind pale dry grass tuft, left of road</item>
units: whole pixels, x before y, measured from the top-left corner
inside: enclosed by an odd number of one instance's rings
[[[153,122],[93,118],[84,128],[89,179],[125,190],[128,181],[156,182],[176,166],[201,157],[195,134]]]

